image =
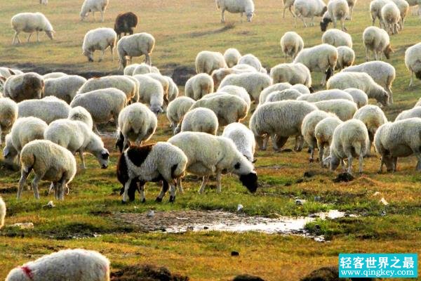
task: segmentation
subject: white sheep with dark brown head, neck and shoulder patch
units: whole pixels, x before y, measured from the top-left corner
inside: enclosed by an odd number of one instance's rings
[[[176,145],[171,143],[154,143],[150,145],[131,146],[119,157],[117,163],[117,178],[123,185],[123,203],[133,201],[133,190],[140,183],[141,202],[145,202],[145,188],[147,181],[162,181],[162,190],[156,197],[161,202],[163,196],[171,187],[170,202],[175,201],[175,183],[185,174],[187,157]],[[134,188],[133,188],[134,187]],[[182,188],[179,185],[180,192]],[[130,193],[129,193],[130,192]]]

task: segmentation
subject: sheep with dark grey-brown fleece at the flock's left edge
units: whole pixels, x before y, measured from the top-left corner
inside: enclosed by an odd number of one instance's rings
[[[44,78],[35,72],[13,75],[8,77],[4,84],[4,97],[11,98],[16,103],[31,98],[42,98],[43,94]]]

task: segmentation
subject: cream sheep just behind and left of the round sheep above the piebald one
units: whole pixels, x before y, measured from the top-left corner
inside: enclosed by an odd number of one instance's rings
[[[84,107],[91,114],[93,129],[99,133],[96,124],[114,119],[117,124],[121,110],[126,106],[126,94],[119,89],[106,88],[76,95],[70,107]]]

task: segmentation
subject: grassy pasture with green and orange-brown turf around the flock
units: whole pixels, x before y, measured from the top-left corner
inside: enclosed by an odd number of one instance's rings
[[[255,0],[253,22],[240,21],[239,15],[226,14],[227,23],[220,23],[220,12],[213,0],[110,0],[105,22],[79,22],[82,1],[50,0],[39,6],[37,0],[0,0],[0,65],[35,70],[41,74],[56,70],[69,73],[116,72],[109,52],[102,63],[88,63],[81,54],[84,34],[96,27],[113,27],[115,16],[133,11],[140,17],[136,32],[149,32],[156,39],[152,63],[164,74],[173,74],[175,67],[194,69],[196,53],[202,50],[225,51],[238,48],[241,53],[253,53],[269,69],[283,63],[279,46],[282,34],[295,30],[306,46],[321,43],[321,31],[315,27],[296,28],[290,14],[282,18],[281,0]],[[365,52],[361,37],[370,25],[368,0],[359,0],[354,18],[347,21],[348,32],[354,40],[356,63],[363,63]],[[41,11],[51,21],[55,40],[43,34],[41,42],[12,46],[13,30],[10,19],[15,13]],[[99,19],[97,15],[97,20]],[[385,108],[388,119],[415,104],[420,97],[421,81],[408,88],[410,74],[403,63],[408,46],[421,40],[420,18],[408,15],[404,30],[391,37],[395,53],[389,63],[396,67],[394,105]],[[21,35],[21,39],[24,37]],[[32,37],[34,40],[35,37]],[[138,63],[139,58],[133,62]],[[314,85],[321,80],[314,74]],[[319,89],[318,87],[316,87]],[[180,87],[182,89],[182,87]],[[248,118],[246,119],[248,123]],[[112,131],[111,126],[102,130]],[[165,141],[171,136],[168,120],[159,116],[159,129],[151,142]],[[15,200],[20,178],[19,171],[0,168],[0,195],[8,207],[6,225],[32,222],[33,230],[18,230],[6,226],[0,231],[0,280],[8,271],[43,254],[69,247],[94,249],[112,261],[112,270],[139,263],[166,266],[172,272],[188,275],[191,280],[231,280],[241,273],[258,275],[265,280],[300,280],[312,270],[338,263],[339,253],[385,252],[420,253],[421,249],[421,175],[415,171],[415,158],[399,160],[399,171],[377,174],[378,155],[364,160],[363,174],[348,183],[333,183],[338,172],[328,172],[319,163],[309,163],[309,155],[302,152],[257,151],[260,188],[251,195],[235,176],[224,176],[222,193],[217,194],[210,182],[204,195],[197,194],[200,180],[188,176],[185,194],[178,195],[174,204],[168,195],[162,203],[154,202],[159,186],[148,183],[147,202],[123,205],[119,197],[120,185],[115,165],[119,153],[112,137],[103,138],[111,152],[108,169],[100,169],[92,155],[87,155],[87,169],[78,171],[69,185],[70,194],[56,207],[44,207],[53,197],[46,195],[49,183],[40,185],[41,200],[33,198],[32,190],[25,190],[22,200]],[[292,148],[288,141],[286,148]],[[375,154],[375,152],[373,152]],[[79,157],[76,158],[80,164]],[[303,178],[312,171],[311,178]],[[354,167],[356,171],[356,167]],[[380,192],[380,194],[378,193]],[[295,198],[307,200],[302,206]],[[384,197],[389,203],[382,204]],[[316,221],[307,225],[314,235],[324,235],[326,242],[315,242],[296,235],[266,235],[261,233],[187,232],[168,234],[144,233],[138,226],[122,223],[118,213],[142,214],[149,209],[236,211],[242,204],[250,216],[305,216],[317,211],[338,209],[358,216],[336,220]],[[239,251],[239,256],[231,256]]]

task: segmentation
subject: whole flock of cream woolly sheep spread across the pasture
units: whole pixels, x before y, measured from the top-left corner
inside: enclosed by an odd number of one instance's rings
[[[47,0],[40,0],[48,4]],[[88,12],[102,15],[108,0],[85,0],[81,20]],[[254,14],[252,0],[216,0],[225,21],[225,11],[246,14],[250,22]],[[145,183],[161,181],[157,202],[170,190],[174,202],[176,191],[182,193],[181,179],[186,173],[203,177],[203,193],[210,176],[216,177],[217,191],[222,189],[222,174],[236,174],[250,192],[258,188],[255,146],[267,149],[269,139],[275,151],[283,149],[290,137],[295,138],[295,151],[309,145],[309,161],[319,150],[319,164],[352,173],[354,158],[363,171],[363,157],[371,153],[372,143],[380,153],[380,171],[396,171],[398,157],[417,157],[421,170],[421,100],[388,122],[382,107],[393,103],[392,83],[395,69],[381,61],[392,53],[389,34],[403,30],[409,6],[417,1],[373,0],[370,15],[378,18],[380,28],[371,26],[363,31],[366,63],[354,65],[352,38],[347,34],[345,20],[352,19],[356,0],[284,0],[286,9],[295,19],[321,17],[321,30],[326,31],[322,44],[305,48],[305,41],[296,32],[286,32],[281,49],[292,63],[275,65],[269,74],[253,54],[241,55],[236,48],[225,53],[201,51],[196,55],[197,74],[185,84],[184,96],[171,77],[162,75],[152,66],[154,48],[151,34],[133,34],[138,19],[133,13],[121,14],[114,30],[98,28],[89,31],[83,40],[83,55],[93,60],[93,52],[114,46],[119,53],[122,75],[86,80],[78,75],[34,72],[0,67],[0,125],[4,137],[4,160],[21,166],[18,199],[26,179],[34,171],[34,196],[39,199],[39,181],[51,182],[55,199],[63,200],[68,184],[76,174],[76,159],[86,169],[84,153],[98,159],[100,167],[109,165],[109,152],[100,138],[97,124],[114,120],[116,147],[119,157],[116,174],[123,185],[124,202],[145,202]],[[326,30],[329,22],[338,22],[342,30]],[[13,44],[20,42],[20,32],[29,37],[46,32],[53,39],[51,23],[41,13],[20,13],[12,20],[15,30]],[[117,36],[118,33],[118,36]],[[121,37],[121,34],[129,33]],[[28,37],[28,41],[29,41]],[[117,42],[117,37],[119,41]],[[116,43],[117,42],[117,43]],[[374,61],[370,60],[370,52]],[[145,63],[127,65],[128,58],[145,55]],[[378,60],[380,58],[380,60]],[[405,63],[413,76],[421,79],[421,44],[406,50]],[[335,71],[337,73],[335,74]],[[322,72],[326,90],[313,93],[312,72]],[[373,98],[379,103],[369,105]],[[254,103],[254,105],[252,105]],[[166,112],[175,136],[166,142],[141,145],[155,133],[157,115]],[[253,113],[251,113],[253,112]],[[249,126],[241,124],[251,114]],[[0,138],[1,141],[1,138]],[[347,160],[345,162],[345,160]],[[6,206],[0,197],[0,228],[4,225]],[[76,264],[73,264],[77,263]],[[58,264],[65,263],[60,272]],[[66,250],[45,256],[15,268],[6,280],[69,280],[72,266],[78,266],[83,280],[109,280],[109,261],[98,253]],[[57,270],[55,269],[57,268]],[[43,271],[44,270],[44,271]],[[60,275],[61,274],[61,275]],[[40,276],[41,276],[40,275]],[[38,278],[38,279],[37,279]],[[80,279],[80,278],[79,278]],[[50,280],[50,279],[48,279]]]

